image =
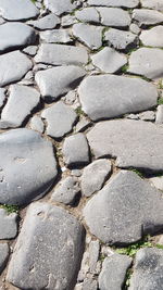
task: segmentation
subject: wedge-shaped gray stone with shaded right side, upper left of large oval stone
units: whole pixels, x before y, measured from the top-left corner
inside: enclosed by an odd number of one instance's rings
[[[53,101],[74,89],[85,75],[82,67],[68,65],[40,71],[35,79],[42,98]]]

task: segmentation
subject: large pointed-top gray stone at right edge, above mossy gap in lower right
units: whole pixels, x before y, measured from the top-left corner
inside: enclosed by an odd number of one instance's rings
[[[136,173],[122,171],[84,207],[92,235],[109,244],[128,244],[163,226],[161,192]]]

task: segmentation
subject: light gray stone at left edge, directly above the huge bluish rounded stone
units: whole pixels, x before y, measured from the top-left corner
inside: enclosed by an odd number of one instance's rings
[[[34,89],[22,85],[10,86],[10,97],[2,110],[0,128],[18,127],[39,103],[40,94]]]

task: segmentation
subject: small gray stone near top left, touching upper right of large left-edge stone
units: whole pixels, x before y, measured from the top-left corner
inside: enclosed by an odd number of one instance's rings
[[[28,24],[39,30],[53,29],[60,24],[60,18],[51,13],[37,21],[29,21]]]

